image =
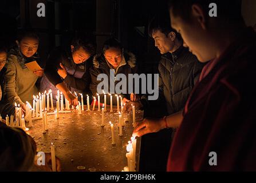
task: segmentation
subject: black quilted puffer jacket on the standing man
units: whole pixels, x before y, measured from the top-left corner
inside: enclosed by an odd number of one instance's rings
[[[153,105],[166,104],[166,115],[183,110],[188,95],[197,82],[204,64],[188,51],[180,46],[174,53],[162,55],[159,63],[159,99],[148,101],[141,100],[144,108]]]

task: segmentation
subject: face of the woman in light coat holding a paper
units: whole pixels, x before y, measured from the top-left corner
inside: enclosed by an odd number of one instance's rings
[[[16,41],[21,53],[26,57],[32,57],[38,49],[39,41],[36,38],[25,37],[21,42]]]

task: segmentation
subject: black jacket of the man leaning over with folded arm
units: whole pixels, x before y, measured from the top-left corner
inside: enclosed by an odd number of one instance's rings
[[[85,62],[76,64],[73,61],[71,51],[57,47],[50,53],[45,65],[45,75],[49,81],[56,86],[58,83],[65,82],[69,87],[73,87],[83,92],[89,91],[90,74],[89,69],[92,66],[93,56]],[[62,79],[58,75],[57,70],[60,68],[60,63],[64,65],[68,75]]]

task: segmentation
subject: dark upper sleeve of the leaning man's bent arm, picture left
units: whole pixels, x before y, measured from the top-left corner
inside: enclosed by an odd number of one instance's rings
[[[63,57],[61,51],[53,50],[45,64],[45,75],[54,86],[62,82],[62,78],[57,72],[57,70],[60,68],[62,59]]]

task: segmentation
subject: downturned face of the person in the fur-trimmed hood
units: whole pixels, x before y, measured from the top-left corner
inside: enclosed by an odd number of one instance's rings
[[[105,51],[105,59],[116,69],[122,61],[122,50],[117,47],[110,47]]]

